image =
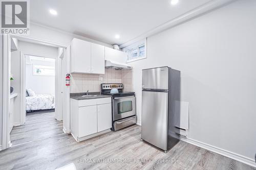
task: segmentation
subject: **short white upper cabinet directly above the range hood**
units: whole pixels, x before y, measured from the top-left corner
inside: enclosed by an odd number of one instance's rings
[[[105,47],[105,60],[126,63],[127,54],[113,48]]]

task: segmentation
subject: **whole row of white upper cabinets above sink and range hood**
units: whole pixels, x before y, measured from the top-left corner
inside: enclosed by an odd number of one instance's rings
[[[105,60],[126,63],[127,54],[77,38],[71,41],[71,73],[105,74]]]

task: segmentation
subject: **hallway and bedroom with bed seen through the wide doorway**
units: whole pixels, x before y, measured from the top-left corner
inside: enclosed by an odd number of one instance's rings
[[[12,144],[63,133],[62,119],[55,112],[59,49],[20,40],[17,40],[16,48],[11,52]]]

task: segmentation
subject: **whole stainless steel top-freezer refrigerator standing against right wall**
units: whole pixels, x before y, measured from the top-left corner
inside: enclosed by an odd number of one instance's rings
[[[142,70],[141,139],[167,152],[179,142],[180,71]]]

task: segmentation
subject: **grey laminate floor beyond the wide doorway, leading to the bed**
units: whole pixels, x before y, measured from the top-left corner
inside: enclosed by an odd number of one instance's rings
[[[26,115],[25,125],[13,127],[10,140],[16,145],[61,133],[62,121],[54,118],[54,112],[35,112]]]

